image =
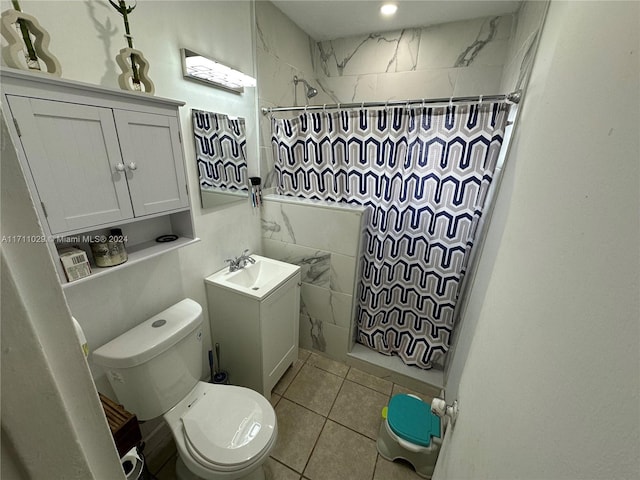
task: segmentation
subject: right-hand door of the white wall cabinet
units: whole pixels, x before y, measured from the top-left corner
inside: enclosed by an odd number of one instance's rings
[[[178,119],[114,110],[136,217],[189,206]]]

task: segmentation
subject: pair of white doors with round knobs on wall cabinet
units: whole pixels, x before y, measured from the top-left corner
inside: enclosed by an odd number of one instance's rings
[[[9,96],[53,234],[189,207],[176,116]]]

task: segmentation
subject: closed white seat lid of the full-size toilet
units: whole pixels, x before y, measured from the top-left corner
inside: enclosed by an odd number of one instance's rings
[[[201,465],[227,469],[251,463],[270,447],[275,414],[269,402],[245,388],[204,395],[181,417],[185,445]]]

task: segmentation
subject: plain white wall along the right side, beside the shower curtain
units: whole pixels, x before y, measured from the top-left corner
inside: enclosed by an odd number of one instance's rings
[[[638,478],[639,9],[551,4],[434,479]]]

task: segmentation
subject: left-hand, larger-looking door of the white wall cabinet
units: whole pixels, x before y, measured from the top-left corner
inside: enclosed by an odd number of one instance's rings
[[[8,101],[51,233],[133,217],[111,109]]]

